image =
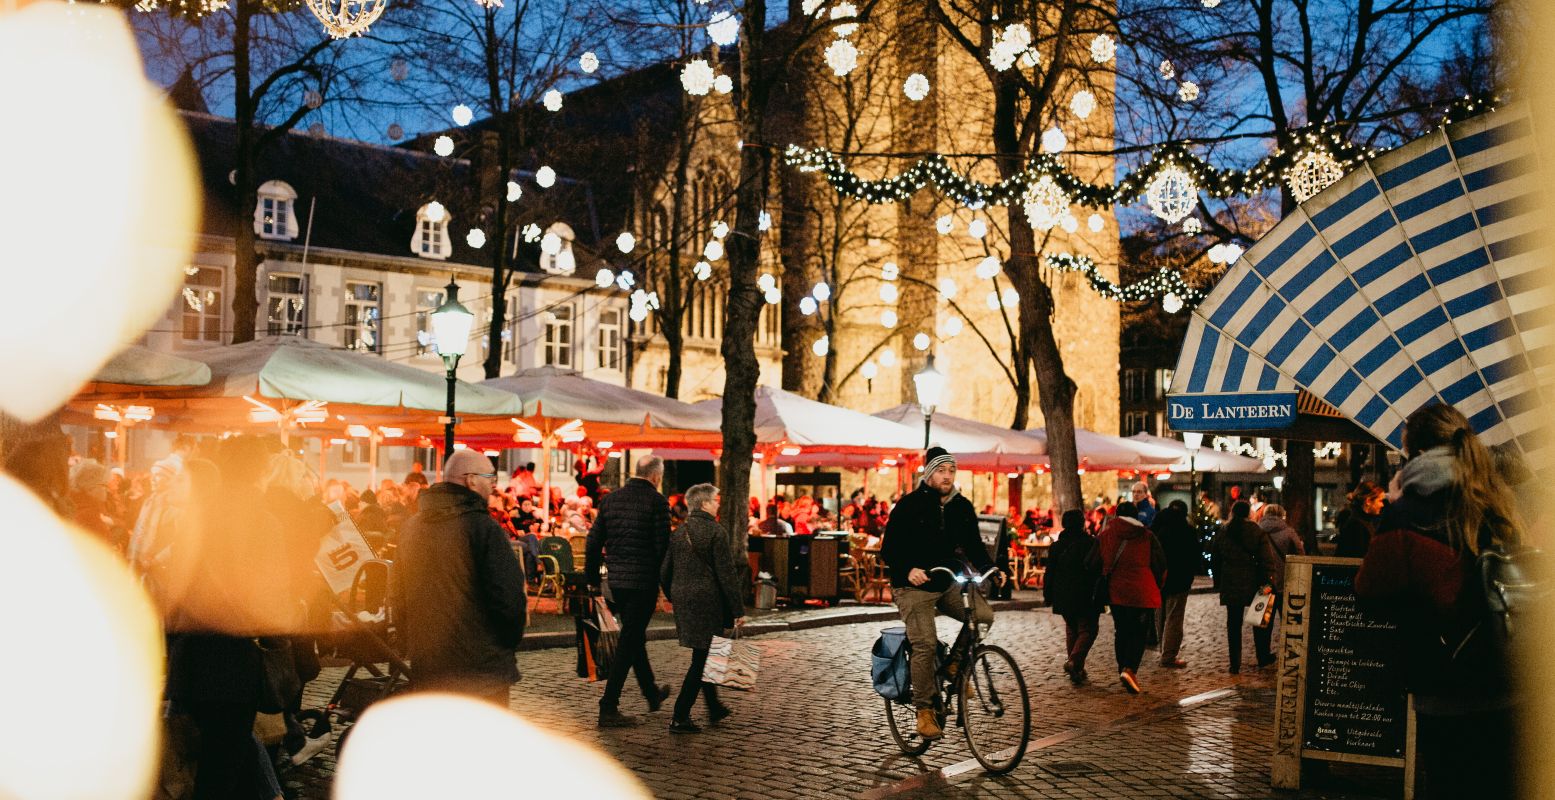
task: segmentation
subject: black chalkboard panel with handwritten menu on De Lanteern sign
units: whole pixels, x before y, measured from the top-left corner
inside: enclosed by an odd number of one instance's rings
[[[1302,750],[1403,758],[1409,699],[1387,675],[1396,626],[1356,609],[1358,571],[1312,565]]]

